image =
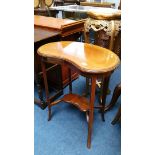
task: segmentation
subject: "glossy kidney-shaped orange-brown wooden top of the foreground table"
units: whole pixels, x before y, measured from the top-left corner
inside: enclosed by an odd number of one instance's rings
[[[112,51],[87,43],[54,42],[41,46],[38,54],[69,62],[82,72],[102,74],[114,70],[120,63]]]

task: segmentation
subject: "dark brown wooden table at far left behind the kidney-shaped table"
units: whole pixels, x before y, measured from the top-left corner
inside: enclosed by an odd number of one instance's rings
[[[37,86],[39,100],[37,98],[34,99],[35,104],[37,104],[42,109],[45,109],[47,104],[43,97],[43,78],[41,72],[41,64],[40,59],[37,55],[37,49],[48,42],[54,42],[60,40],[61,32],[58,30],[50,30],[48,28],[43,27],[34,27],[34,78],[35,78],[35,85]],[[53,74],[55,71],[55,74]],[[52,86],[56,91],[52,95],[51,100],[62,95],[62,79],[61,79],[61,68],[60,66],[47,65],[47,73],[48,73],[48,82],[49,85]],[[55,75],[55,77],[53,77]],[[55,79],[54,83],[52,79]]]

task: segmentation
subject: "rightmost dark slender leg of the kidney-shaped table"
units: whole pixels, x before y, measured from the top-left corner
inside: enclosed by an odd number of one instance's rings
[[[107,90],[108,90],[108,85],[109,85],[109,80],[110,80],[110,75],[109,76],[106,76],[104,77],[104,80],[102,81],[102,83],[104,83],[102,85],[102,90],[103,90],[103,93],[102,93],[102,109],[101,109],[101,116],[102,116],[102,120],[105,121],[104,119],[104,109],[105,109],[105,102],[106,102],[106,96],[107,96]]]

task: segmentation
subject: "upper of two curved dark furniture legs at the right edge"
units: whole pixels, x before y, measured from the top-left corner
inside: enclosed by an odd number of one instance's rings
[[[110,103],[105,107],[105,111],[110,110],[115,105],[120,95],[121,95],[121,84],[118,84],[114,89],[113,96]]]

